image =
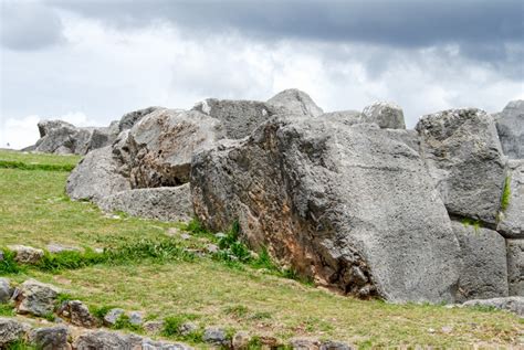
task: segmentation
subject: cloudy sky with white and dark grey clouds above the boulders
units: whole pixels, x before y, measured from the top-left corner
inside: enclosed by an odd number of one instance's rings
[[[41,119],[104,126],[291,87],[325,112],[395,102],[408,128],[524,99],[522,0],[0,3],[0,148],[34,144]]]

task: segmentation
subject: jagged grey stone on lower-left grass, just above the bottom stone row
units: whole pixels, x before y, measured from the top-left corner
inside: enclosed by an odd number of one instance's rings
[[[48,316],[54,310],[59,291],[52,285],[28,279],[14,291],[15,310],[18,314]]]

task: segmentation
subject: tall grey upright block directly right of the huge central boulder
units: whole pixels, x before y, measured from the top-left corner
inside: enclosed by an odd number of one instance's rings
[[[495,226],[505,159],[491,115],[476,108],[423,116],[421,155],[451,215]]]

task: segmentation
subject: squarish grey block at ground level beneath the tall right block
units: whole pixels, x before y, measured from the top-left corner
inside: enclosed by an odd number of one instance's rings
[[[506,244],[496,231],[453,222],[460,242],[462,269],[457,299],[507,296]]]

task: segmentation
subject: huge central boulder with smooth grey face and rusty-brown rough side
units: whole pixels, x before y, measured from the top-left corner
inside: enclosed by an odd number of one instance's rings
[[[452,300],[459,243],[418,152],[387,130],[277,117],[193,157],[196,215],[345,293]]]

